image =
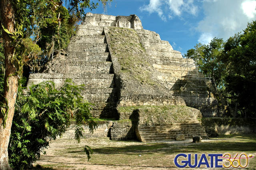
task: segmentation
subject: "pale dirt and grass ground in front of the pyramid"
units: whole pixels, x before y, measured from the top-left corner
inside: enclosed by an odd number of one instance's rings
[[[235,140],[236,138],[232,138],[233,142]],[[197,144],[192,143],[192,140],[145,144],[137,141],[112,141],[108,138],[82,139],[80,143],[73,139],[57,139],[52,141],[46,150],[46,155],[42,154],[34,165],[39,164],[44,168],[52,168],[53,170],[180,170],[182,168],[177,168],[174,164],[174,157],[177,153],[191,151],[184,150],[184,148],[200,148],[201,144],[212,143],[216,143],[216,147],[218,147],[218,142],[225,143],[228,141],[230,138],[214,138],[203,140],[202,143]],[[83,152],[85,145],[94,150],[90,161]],[[206,145],[206,147],[208,146]],[[204,152],[202,151],[202,153]],[[256,151],[250,151],[250,153],[255,155]],[[215,169],[201,168],[204,170]]]

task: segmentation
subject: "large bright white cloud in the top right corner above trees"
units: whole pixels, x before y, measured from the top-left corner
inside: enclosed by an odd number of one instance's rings
[[[256,19],[255,0],[204,0],[202,5],[205,17],[196,28],[201,43],[208,43],[210,37],[226,40]]]

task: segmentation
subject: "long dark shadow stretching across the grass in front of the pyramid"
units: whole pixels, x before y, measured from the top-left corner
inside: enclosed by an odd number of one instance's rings
[[[129,145],[121,147],[104,147],[104,148],[93,148],[94,153],[97,154],[176,154],[176,153],[198,153],[198,152],[213,152],[213,151],[256,151],[256,140],[255,141],[212,141],[202,143],[184,143],[182,144],[168,144],[168,143],[150,143],[142,145]],[[81,151],[69,151],[69,153],[78,153]]]

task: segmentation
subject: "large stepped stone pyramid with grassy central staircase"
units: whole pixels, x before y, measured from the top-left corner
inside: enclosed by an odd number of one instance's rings
[[[87,13],[66,53],[31,73],[28,86],[46,80],[59,86],[65,79],[86,85],[82,96],[93,103],[92,115],[113,120],[112,140],[208,138],[198,118],[221,110],[211,81],[193,59],[144,30],[138,16]]]

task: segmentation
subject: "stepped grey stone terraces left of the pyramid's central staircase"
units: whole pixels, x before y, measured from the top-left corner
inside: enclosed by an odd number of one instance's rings
[[[43,73],[31,73],[28,86],[51,80],[59,87],[65,79],[72,79],[77,85],[85,85],[81,95],[93,104],[93,117],[116,117],[115,78],[106,37],[102,34],[103,30],[74,37],[67,56],[49,61]]]

